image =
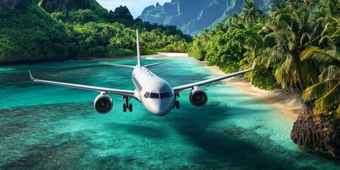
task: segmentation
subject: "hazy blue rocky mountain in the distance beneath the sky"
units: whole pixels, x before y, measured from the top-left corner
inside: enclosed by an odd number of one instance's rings
[[[268,10],[272,0],[254,0],[256,6]],[[163,6],[148,6],[139,18],[150,23],[174,25],[183,33],[200,33],[205,28],[227,21],[232,13],[242,11],[244,1],[237,0],[172,0]]]

